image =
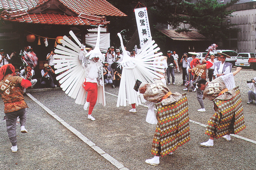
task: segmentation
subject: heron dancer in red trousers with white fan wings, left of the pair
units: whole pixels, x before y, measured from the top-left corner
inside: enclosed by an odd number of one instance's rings
[[[67,36],[64,36],[64,40],[60,41],[63,46],[57,45],[56,48],[58,49],[54,51],[57,55],[53,56],[53,63],[58,63],[54,66],[54,68],[58,69],[55,73],[58,74],[65,71],[56,77],[57,80],[60,80],[62,90],[68,96],[76,99],[76,104],[81,105],[84,104],[86,91],[88,92],[84,110],[87,110],[90,105],[88,112],[88,119],[90,120],[95,120],[91,114],[96,102],[106,106],[102,70],[104,55],[102,55],[99,48],[100,29],[101,27],[99,26],[95,48],[89,53],[84,50],[85,46],[81,44],[76,35],[70,31],[69,34],[78,45]]]

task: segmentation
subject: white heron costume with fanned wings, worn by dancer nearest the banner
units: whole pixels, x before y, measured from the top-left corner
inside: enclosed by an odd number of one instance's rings
[[[163,77],[156,71],[164,73],[164,66],[161,65],[164,63],[161,61],[164,56],[159,56],[163,54],[162,52],[154,54],[154,52],[159,51],[160,48],[157,47],[155,41],[150,38],[143,48],[141,48],[141,51],[135,55],[135,57],[131,57],[126,53],[121,34],[118,33],[117,35],[121,41],[124,58],[119,65],[119,67],[123,67],[123,70],[116,107],[126,106],[126,99],[128,104],[131,105],[135,103],[138,106],[141,104],[141,101],[144,101],[144,98],[142,94],[139,94],[139,92],[133,89],[136,80],[152,83],[155,82],[156,79]]]

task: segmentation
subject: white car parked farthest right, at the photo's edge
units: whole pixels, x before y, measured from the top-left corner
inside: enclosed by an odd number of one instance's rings
[[[250,64],[249,58],[256,58],[254,53],[239,53],[236,57],[236,66],[245,66],[252,69],[252,64]]]

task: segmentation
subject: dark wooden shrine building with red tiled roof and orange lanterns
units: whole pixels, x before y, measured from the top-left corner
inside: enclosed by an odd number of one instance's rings
[[[107,28],[108,17],[125,16],[106,0],[0,1],[0,48],[10,55],[12,50],[20,53],[31,46],[39,61],[44,61],[58,44],[57,37],[69,36],[72,30],[85,44],[88,29],[98,25]]]

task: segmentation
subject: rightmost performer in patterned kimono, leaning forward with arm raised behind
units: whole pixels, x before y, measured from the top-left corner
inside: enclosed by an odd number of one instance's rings
[[[220,76],[205,85],[198,85],[204,91],[204,97],[213,100],[215,110],[205,131],[210,139],[201,143],[201,146],[212,147],[214,138],[223,137],[230,141],[230,134],[237,134],[245,129],[241,95],[234,79],[240,70],[241,67],[237,67],[233,73]]]

